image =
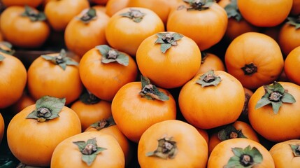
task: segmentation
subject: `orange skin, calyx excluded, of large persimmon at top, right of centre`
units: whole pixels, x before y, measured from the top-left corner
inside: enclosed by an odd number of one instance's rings
[[[227,22],[224,8],[213,3],[207,10],[173,10],[169,14],[166,30],[188,36],[197,43],[200,50],[206,50],[222,39]]]

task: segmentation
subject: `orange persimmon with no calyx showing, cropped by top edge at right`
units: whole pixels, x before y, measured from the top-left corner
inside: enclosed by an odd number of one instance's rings
[[[238,9],[243,18],[257,27],[274,27],[279,25],[289,15],[292,3],[293,0],[237,1]]]

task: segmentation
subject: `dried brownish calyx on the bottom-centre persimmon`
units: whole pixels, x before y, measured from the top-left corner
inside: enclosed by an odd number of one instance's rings
[[[158,139],[158,146],[155,151],[146,153],[146,156],[155,156],[162,159],[173,159],[178,152],[176,141],[172,141],[172,137],[164,137]]]

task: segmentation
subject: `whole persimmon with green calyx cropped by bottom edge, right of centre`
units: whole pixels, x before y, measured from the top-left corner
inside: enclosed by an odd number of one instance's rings
[[[210,153],[207,168],[215,167],[275,168],[275,165],[269,151],[257,141],[228,139]]]

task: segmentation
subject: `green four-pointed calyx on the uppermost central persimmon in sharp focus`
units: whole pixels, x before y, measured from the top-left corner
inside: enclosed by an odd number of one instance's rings
[[[178,45],[176,41],[179,41],[181,38],[183,38],[183,35],[178,33],[165,32],[157,33],[156,35],[158,38],[155,41],[155,44],[160,44],[160,50],[162,51],[162,53],[165,53],[166,50],[169,50],[169,48],[171,48],[172,46]]]

